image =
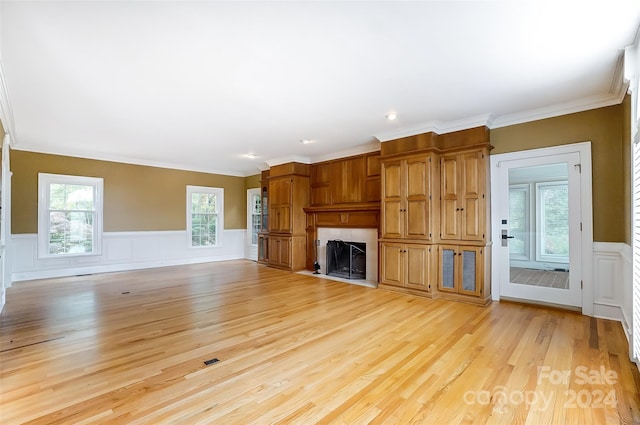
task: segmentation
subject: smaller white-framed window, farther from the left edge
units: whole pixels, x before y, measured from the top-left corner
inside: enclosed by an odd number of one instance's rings
[[[187,186],[189,246],[220,246],[223,229],[224,189]]]

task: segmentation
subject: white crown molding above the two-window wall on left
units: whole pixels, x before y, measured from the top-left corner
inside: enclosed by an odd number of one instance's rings
[[[202,167],[193,167],[191,165],[178,164],[178,163],[170,163],[170,162],[161,162],[161,161],[150,161],[146,159],[139,158],[131,158],[120,155],[112,155],[112,154],[93,154],[81,151],[71,151],[71,150],[56,150],[48,151],[46,149],[35,149],[30,148],[29,146],[11,146],[12,149],[18,151],[25,152],[33,152],[33,153],[42,153],[47,155],[59,155],[59,156],[70,156],[73,158],[81,158],[81,159],[92,159],[96,161],[107,161],[107,162],[118,162],[121,164],[130,164],[130,165],[141,165],[144,167],[156,167],[156,168],[167,168],[171,170],[181,170],[181,171],[192,171],[194,173],[206,173],[206,174],[219,174],[223,176],[232,176],[232,177],[249,177],[256,173],[252,172],[238,172],[231,170],[217,170],[212,168],[202,168]]]

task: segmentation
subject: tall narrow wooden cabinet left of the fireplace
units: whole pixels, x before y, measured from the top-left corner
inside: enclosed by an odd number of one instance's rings
[[[309,165],[288,163],[269,170],[268,264],[286,270],[306,265]]]

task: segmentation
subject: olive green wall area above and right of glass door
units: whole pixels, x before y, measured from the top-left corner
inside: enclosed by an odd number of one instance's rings
[[[627,107],[628,108],[628,107]],[[629,152],[624,105],[593,109],[491,130],[492,155],[527,149],[591,142],[593,239],[628,242],[630,201]]]

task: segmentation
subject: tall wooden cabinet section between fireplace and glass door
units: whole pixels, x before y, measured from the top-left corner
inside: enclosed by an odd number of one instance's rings
[[[489,132],[384,142],[380,286],[490,302]]]

